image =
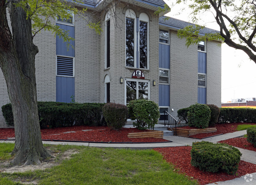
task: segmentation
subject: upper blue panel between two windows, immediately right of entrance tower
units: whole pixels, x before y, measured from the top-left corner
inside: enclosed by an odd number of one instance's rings
[[[159,67],[170,68],[170,46],[159,44]]]

